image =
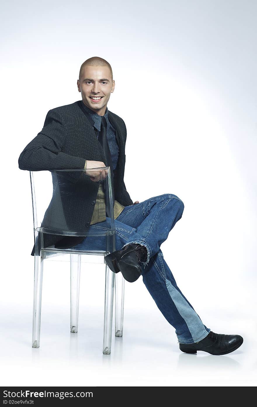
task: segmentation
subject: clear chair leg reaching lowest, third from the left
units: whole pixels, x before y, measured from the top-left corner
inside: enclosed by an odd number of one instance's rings
[[[115,274],[106,264],[105,271],[105,301],[104,301],[104,343],[103,354],[110,354],[112,344],[112,312]]]

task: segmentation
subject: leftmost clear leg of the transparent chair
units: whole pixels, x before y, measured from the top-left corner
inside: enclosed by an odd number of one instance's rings
[[[41,300],[43,282],[43,259],[41,258],[41,234],[35,232],[35,266],[34,266],[34,299],[33,299],[33,322],[32,322],[32,348],[39,348]]]

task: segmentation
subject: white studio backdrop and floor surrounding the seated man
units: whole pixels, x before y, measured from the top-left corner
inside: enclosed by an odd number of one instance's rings
[[[2,3],[2,385],[251,386],[256,379],[257,3]],[[69,265],[45,267],[41,346],[31,348],[34,258],[29,172],[19,154],[49,109],[81,99],[82,62],[116,83],[108,109],[127,126],[134,201],[185,204],[162,244],[203,323],[239,334],[224,356],[183,354],[140,277],[125,282],[123,338],[102,354],[104,267],[82,269],[78,333],[69,333]]]

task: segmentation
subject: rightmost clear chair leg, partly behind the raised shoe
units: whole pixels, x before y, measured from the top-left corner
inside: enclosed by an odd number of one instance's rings
[[[124,283],[121,273],[115,274],[115,336],[123,335]]]

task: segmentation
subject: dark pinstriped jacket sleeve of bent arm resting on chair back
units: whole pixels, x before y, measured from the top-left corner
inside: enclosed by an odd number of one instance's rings
[[[83,169],[85,159],[61,151],[67,136],[65,120],[57,109],[49,110],[43,129],[19,156],[21,170]],[[80,173],[80,171],[78,171]]]

